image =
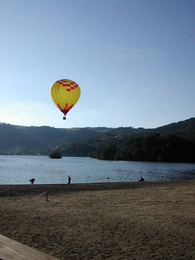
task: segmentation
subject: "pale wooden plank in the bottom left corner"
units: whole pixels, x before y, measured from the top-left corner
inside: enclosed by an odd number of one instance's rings
[[[59,260],[0,234],[0,260]]]

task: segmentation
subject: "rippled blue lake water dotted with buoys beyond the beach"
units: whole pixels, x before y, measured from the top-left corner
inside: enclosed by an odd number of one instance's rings
[[[128,182],[195,179],[195,164],[102,161],[87,157],[0,155],[0,184]],[[163,176],[163,178],[161,177]],[[109,177],[109,180],[107,180]]]

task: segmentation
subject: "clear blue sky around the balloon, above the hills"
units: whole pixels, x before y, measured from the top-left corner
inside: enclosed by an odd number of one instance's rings
[[[195,1],[1,1],[0,122],[156,128],[194,117]],[[75,81],[63,114],[52,83]]]

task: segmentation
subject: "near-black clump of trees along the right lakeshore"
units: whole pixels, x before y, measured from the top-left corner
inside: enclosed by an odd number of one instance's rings
[[[147,162],[195,162],[195,140],[187,140],[175,134],[161,136],[158,133],[147,137],[132,138],[123,148],[107,144],[91,158],[102,160],[125,160]]]

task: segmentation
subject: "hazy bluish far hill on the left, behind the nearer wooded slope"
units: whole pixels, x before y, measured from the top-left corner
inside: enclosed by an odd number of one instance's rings
[[[48,146],[58,146],[59,143],[80,141],[97,135],[101,130],[85,128],[54,128],[49,126],[15,126],[0,124],[1,154],[37,154]],[[58,141],[59,140],[59,141]],[[56,142],[56,144],[55,144]]]

